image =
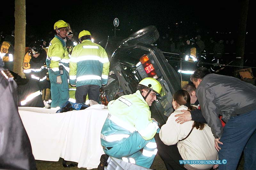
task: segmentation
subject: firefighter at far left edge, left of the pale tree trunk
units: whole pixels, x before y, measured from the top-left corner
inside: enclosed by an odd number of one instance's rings
[[[4,62],[4,67],[10,71],[13,70],[13,56],[14,56],[14,33],[4,37],[1,43],[0,56]]]

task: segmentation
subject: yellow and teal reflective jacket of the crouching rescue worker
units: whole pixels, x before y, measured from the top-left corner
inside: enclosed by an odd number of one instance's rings
[[[123,95],[108,103],[109,115],[101,130],[101,145],[115,145],[115,141],[138,131],[145,140],[152,139],[158,126],[151,119],[151,112],[140,91]]]

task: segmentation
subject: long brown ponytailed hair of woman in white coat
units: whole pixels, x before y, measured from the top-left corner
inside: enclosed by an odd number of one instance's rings
[[[196,109],[196,107],[190,105],[190,95],[186,90],[178,90],[173,95],[173,100],[176,101],[179,105],[184,105],[188,107],[188,111]],[[204,123],[194,122],[192,127],[196,129],[203,130]]]

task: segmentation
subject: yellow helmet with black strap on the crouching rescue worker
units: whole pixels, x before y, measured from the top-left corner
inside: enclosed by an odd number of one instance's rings
[[[161,84],[155,79],[155,78],[151,78],[151,77],[146,77],[143,78],[139,85],[143,85],[149,89],[151,89],[153,92],[156,92],[158,95],[160,95],[160,92],[162,90],[162,86]]]

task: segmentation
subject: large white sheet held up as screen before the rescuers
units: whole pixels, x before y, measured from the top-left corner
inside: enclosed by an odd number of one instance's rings
[[[100,132],[108,116],[104,105],[54,113],[51,109],[19,107],[36,160],[78,162],[78,168],[97,168],[104,154]]]

